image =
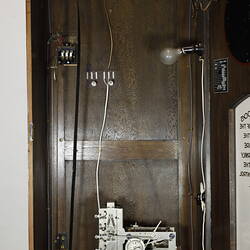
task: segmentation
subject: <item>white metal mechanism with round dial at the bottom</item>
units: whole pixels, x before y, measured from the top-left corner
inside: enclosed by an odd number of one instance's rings
[[[174,227],[142,227],[137,224],[124,228],[123,209],[108,202],[95,216],[99,222],[96,250],[176,250]]]

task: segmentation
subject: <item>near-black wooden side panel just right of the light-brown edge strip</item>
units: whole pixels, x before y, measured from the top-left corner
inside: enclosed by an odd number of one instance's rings
[[[48,193],[47,193],[47,2],[30,1],[32,58],[32,118],[33,141],[33,202],[34,202],[34,249],[48,248]],[[39,28],[38,28],[39,27]],[[17,104],[18,105],[18,104]],[[31,111],[31,110],[30,110]],[[32,152],[30,152],[32,153]],[[17,208],[18,209],[18,208]],[[30,232],[31,233],[31,232]],[[32,244],[30,245],[32,246]],[[32,249],[32,248],[31,248]]]

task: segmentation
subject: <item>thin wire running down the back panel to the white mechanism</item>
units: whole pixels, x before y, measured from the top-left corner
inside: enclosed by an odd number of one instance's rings
[[[104,5],[105,16],[106,16],[106,20],[107,20],[108,29],[109,29],[109,36],[110,36],[110,52],[109,52],[109,59],[108,59],[108,64],[107,64],[107,70],[109,70],[110,66],[111,66],[111,62],[112,62],[112,57],[113,57],[114,40],[113,40],[112,26],[111,26],[110,17],[109,17],[108,10],[107,10],[106,0],[103,0],[103,1],[104,1],[103,5]],[[98,140],[98,157],[97,157],[96,171],[95,171],[96,199],[97,199],[98,211],[100,210],[100,207],[101,207],[101,205],[100,205],[100,187],[99,187],[99,169],[100,169],[100,161],[101,161],[101,155],[102,155],[102,139],[103,139],[103,132],[105,129],[105,124],[106,124],[108,103],[109,103],[109,92],[110,92],[109,83],[106,81],[105,78],[103,79],[103,81],[106,85],[106,96],[105,96],[102,127],[101,127],[100,136],[99,136],[99,140]]]

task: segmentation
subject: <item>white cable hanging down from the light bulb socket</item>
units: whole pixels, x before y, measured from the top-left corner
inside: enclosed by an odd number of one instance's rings
[[[201,145],[200,145],[200,166],[202,175],[202,188],[201,188],[201,207],[202,207],[202,250],[205,250],[205,224],[206,224],[206,203],[202,200],[203,193],[206,192],[206,180],[204,173],[204,162],[203,162],[203,150],[204,150],[204,137],[206,127],[206,116],[205,116],[205,96],[204,96],[204,59],[200,58],[201,61],[201,106],[202,106],[202,133],[201,133]]]

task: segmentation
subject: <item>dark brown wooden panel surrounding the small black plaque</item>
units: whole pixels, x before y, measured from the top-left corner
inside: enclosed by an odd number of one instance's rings
[[[249,64],[232,57],[225,39],[224,14],[227,1],[219,1],[211,12],[211,59],[229,59],[229,93],[214,94],[211,86],[212,248],[230,249],[229,212],[229,115],[236,101],[250,93]]]

